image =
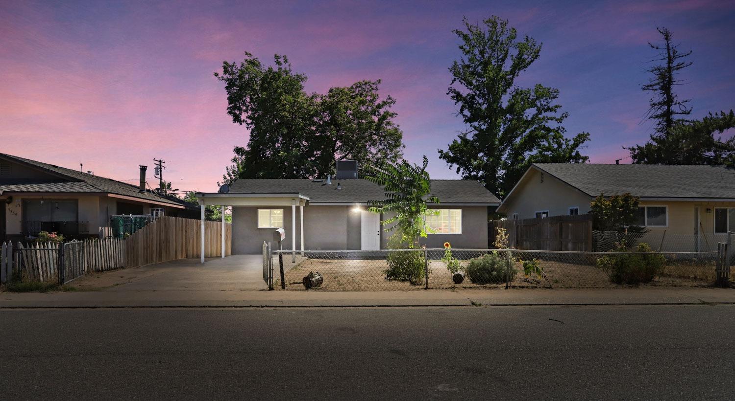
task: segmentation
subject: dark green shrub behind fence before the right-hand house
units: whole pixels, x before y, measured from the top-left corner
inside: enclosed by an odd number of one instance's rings
[[[653,252],[647,243],[635,249],[619,247],[614,254],[600,257],[597,266],[614,284],[648,283],[661,274],[666,263],[663,255]]]

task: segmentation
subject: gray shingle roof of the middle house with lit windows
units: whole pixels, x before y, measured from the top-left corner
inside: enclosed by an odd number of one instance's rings
[[[337,185],[339,184],[339,185]],[[337,189],[339,186],[342,189]],[[301,194],[311,203],[365,203],[383,199],[385,191],[368,180],[332,180],[331,185],[312,180],[235,181],[230,194]],[[440,203],[484,203],[500,205],[500,200],[473,180],[431,180],[431,194]]]

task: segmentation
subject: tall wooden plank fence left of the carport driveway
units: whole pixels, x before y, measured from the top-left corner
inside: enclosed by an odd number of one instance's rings
[[[221,222],[204,222],[204,256],[221,255]],[[201,252],[201,221],[164,216],[126,239],[128,267],[150,265],[190,257]],[[225,224],[225,256],[232,254],[232,224]]]

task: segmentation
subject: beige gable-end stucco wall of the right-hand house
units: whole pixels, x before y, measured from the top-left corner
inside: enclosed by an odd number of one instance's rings
[[[508,218],[513,213],[518,213],[518,218],[534,218],[542,210],[548,210],[549,216],[565,216],[570,207],[579,207],[579,214],[584,214],[589,213],[589,202],[592,202],[592,196],[549,174],[544,174],[542,183],[541,173],[536,169],[528,172],[513,195],[500,210]]]

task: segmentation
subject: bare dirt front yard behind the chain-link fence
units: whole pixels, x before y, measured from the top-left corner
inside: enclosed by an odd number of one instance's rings
[[[462,265],[466,265],[462,261]],[[528,278],[523,274],[520,263],[515,263],[517,273],[511,287],[517,288],[614,288],[623,287],[612,284],[603,271],[595,265],[571,262],[542,261],[546,279]],[[383,271],[387,268],[384,260],[315,260],[308,259],[285,273],[287,290],[305,290],[301,280],[309,272],[319,272],[324,284],[315,288],[320,291],[375,291],[375,290],[423,290],[424,283],[410,284],[385,279]],[[277,277],[277,275],[276,275]],[[714,265],[687,265],[672,263],[664,268],[664,273],[645,284],[650,287],[705,287],[714,282]],[[465,278],[462,284],[454,284],[451,273],[440,260],[429,261],[429,288],[504,288],[501,284],[473,284]],[[280,288],[280,285],[276,285]]]

